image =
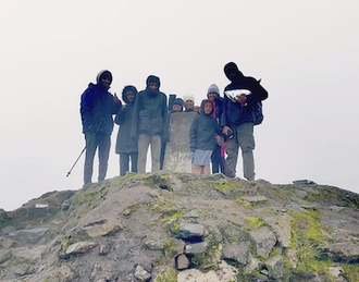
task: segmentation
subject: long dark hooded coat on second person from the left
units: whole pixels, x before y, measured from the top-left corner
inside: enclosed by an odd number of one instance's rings
[[[133,93],[135,96],[135,99],[133,101],[128,101],[127,99],[127,94],[129,91]],[[129,154],[138,151],[137,140],[131,138],[129,136],[132,131],[132,119],[136,96],[137,89],[135,86],[127,85],[122,90],[122,100],[125,102],[125,105],[119,110],[116,117],[114,118],[115,124],[120,125],[115,147],[116,154]]]

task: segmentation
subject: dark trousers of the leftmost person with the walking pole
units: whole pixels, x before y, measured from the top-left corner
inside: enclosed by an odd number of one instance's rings
[[[84,165],[84,184],[92,182],[94,159],[96,150],[99,156],[98,181],[103,181],[108,172],[108,162],[110,157],[111,134],[106,133],[85,133],[86,155]]]

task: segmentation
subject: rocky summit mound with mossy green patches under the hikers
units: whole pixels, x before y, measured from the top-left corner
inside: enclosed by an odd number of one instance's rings
[[[0,210],[0,281],[359,281],[359,195],[126,174]]]

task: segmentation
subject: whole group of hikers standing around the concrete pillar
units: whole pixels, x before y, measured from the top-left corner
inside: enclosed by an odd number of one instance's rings
[[[255,105],[268,98],[260,81],[245,76],[234,62],[224,66],[230,84],[224,97],[212,84],[200,107],[193,95],[178,98],[160,90],[156,75],[146,79],[146,88],[138,91],[133,85],[122,90],[122,101],[109,89],[112,74],[108,70],[97,75],[81,97],[81,117],[86,140],[84,186],[92,181],[94,159],[98,150],[98,181],[104,180],[114,123],[120,125],[115,152],[120,155],[120,175],[126,172],[145,173],[147,152],[151,148],[151,172],[163,168],[169,142],[170,118],[174,112],[196,112],[189,130],[191,172],[197,174],[221,172],[236,176],[239,148],[243,156],[244,177],[255,180]],[[233,95],[234,94],[234,95]]]

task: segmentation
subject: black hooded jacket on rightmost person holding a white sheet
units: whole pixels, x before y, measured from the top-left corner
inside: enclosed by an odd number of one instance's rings
[[[247,103],[232,101],[226,95],[223,99],[223,113],[221,115],[222,126],[239,125],[245,122],[253,122],[252,107],[268,98],[268,91],[260,85],[260,81],[251,76],[245,76],[234,62],[224,66],[224,73],[231,83],[224,88],[226,90],[245,89],[250,94],[246,95]]]

